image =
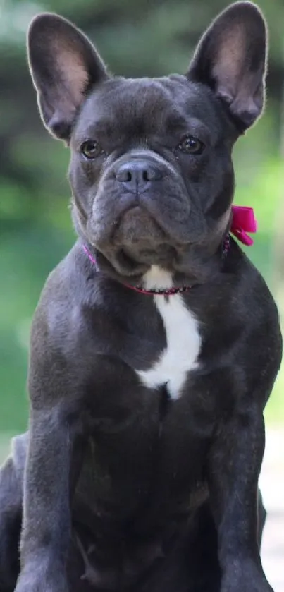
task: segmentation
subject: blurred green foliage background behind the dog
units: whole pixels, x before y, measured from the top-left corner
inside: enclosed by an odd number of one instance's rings
[[[230,4],[222,0],[0,0],[0,434],[27,425],[30,322],[49,271],[68,251],[68,150],[39,121],[27,71],[25,33],[40,11],[73,20],[114,73],[183,73],[199,35]],[[284,0],[259,0],[270,30],[266,114],[235,148],[235,202],[255,208],[259,232],[247,249],[284,313]],[[282,136],[282,140],[281,140]],[[283,155],[282,155],[283,156]],[[284,318],[284,314],[283,314]],[[284,369],[266,408],[284,422]]]

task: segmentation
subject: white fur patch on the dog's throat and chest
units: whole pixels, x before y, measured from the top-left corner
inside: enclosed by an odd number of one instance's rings
[[[145,289],[171,288],[171,274],[159,267],[144,276]],[[180,294],[154,296],[166,331],[166,348],[158,361],[148,370],[137,370],[140,379],[149,388],[167,385],[168,394],[178,399],[187,373],[197,368],[201,348],[198,322],[183,303]]]

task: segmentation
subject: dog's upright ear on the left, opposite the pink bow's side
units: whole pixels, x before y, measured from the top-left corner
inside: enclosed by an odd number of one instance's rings
[[[80,30],[51,13],[32,20],[27,51],[42,121],[56,138],[68,142],[88,91],[108,78],[106,66]]]

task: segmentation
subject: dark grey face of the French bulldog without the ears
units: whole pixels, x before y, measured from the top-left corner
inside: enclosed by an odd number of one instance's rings
[[[224,230],[229,129],[209,93],[182,76],[107,80],[92,92],[71,135],[70,181],[85,236],[118,271],[174,265],[214,239],[220,217]]]

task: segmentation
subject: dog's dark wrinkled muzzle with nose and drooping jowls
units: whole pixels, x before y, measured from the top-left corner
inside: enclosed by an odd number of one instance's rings
[[[101,177],[89,242],[102,253],[119,248],[137,260],[142,252],[158,255],[204,234],[199,207],[175,163],[152,150],[132,150],[109,164]]]

